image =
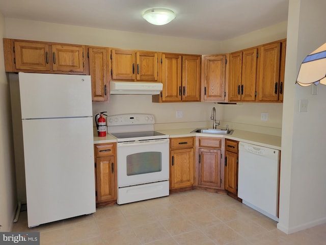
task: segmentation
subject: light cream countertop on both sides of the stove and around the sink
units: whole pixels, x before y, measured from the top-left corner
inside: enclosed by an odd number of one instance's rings
[[[203,134],[203,133],[191,133],[196,128],[184,128],[184,129],[165,129],[155,130],[170,136],[170,138],[176,137],[188,137],[188,136],[203,136],[203,137],[218,137],[233,139],[250,144],[256,144],[267,148],[281,150],[281,137],[269,134],[261,134],[244,130],[235,129],[231,135],[228,134]],[[112,143],[117,142],[117,139],[110,134],[106,134],[105,137],[94,136],[94,144],[99,143]]]

